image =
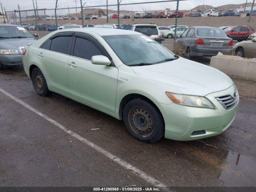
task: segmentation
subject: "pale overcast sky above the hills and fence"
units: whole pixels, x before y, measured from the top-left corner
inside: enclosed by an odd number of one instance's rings
[[[35,6],[36,1],[38,9],[50,9],[55,7],[56,0],[34,0]],[[122,0],[121,4],[135,3],[135,2],[152,2],[157,0]],[[20,5],[20,10],[30,10],[33,9],[32,0],[0,0],[2,6],[6,8],[6,11],[18,10],[18,4]],[[108,0],[108,4],[116,4],[117,0]],[[211,5],[220,6],[225,4],[241,4],[245,3],[246,0],[184,0],[180,1],[180,10],[190,10],[198,5]],[[252,2],[252,0],[248,0]],[[106,5],[106,0],[82,0],[82,4],[85,3],[86,6],[99,6]],[[80,0],[58,0],[58,8],[80,6]],[[103,7],[102,7],[103,8]],[[112,7],[116,9],[116,6]],[[123,5],[120,6],[121,10],[163,10],[164,8],[171,8],[174,10],[176,8],[176,2],[164,2],[164,3],[150,3],[150,4],[136,4],[136,5]],[[111,6],[109,7],[111,9]],[[73,12],[73,10],[71,10]],[[80,10],[79,10],[80,11]]]

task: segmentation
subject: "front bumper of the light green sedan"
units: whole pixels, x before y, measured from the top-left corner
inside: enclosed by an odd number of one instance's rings
[[[235,86],[231,86],[227,90],[206,96],[216,109],[188,107],[174,103],[158,103],[157,106],[164,118],[165,138],[189,141],[215,136],[224,132],[236,116],[239,101],[232,109],[226,110],[215,97],[226,94],[233,96],[234,89]],[[194,131],[202,130],[205,133],[192,135]]]

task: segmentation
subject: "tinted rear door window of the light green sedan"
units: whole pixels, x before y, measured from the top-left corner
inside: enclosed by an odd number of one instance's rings
[[[68,54],[71,36],[60,36],[52,39],[51,51]]]

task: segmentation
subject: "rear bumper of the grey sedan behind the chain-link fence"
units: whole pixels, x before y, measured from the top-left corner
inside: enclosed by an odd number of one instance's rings
[[[204,48],[204,47],[192,47],[191,54],[194,56],[215,56],[218,52],[231,52],[232,48]]]

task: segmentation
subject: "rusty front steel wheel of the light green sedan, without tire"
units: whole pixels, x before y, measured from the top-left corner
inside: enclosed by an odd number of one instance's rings
[[[149,137],[154,132],[154,119],[150,112],[141,106],[134,106],[128,112],[129,124],[142,137]]]

